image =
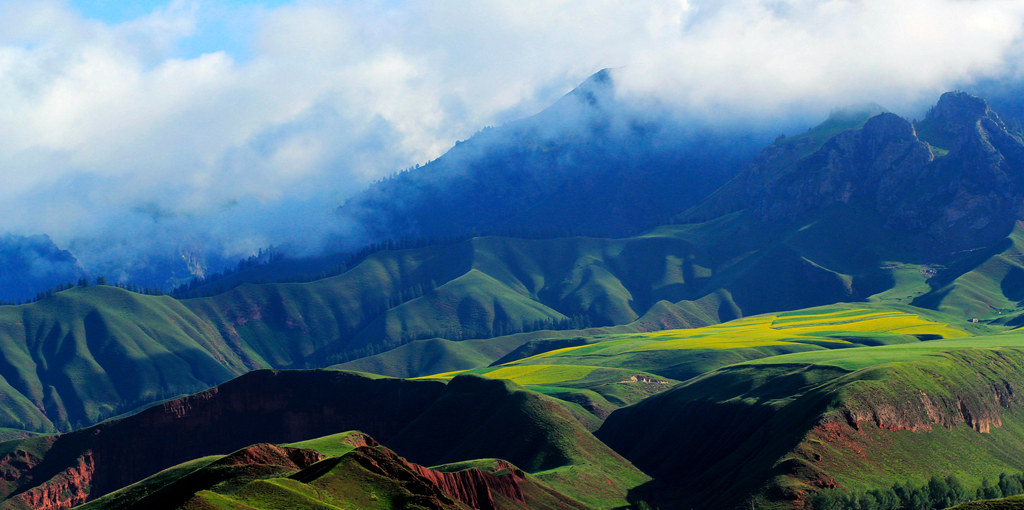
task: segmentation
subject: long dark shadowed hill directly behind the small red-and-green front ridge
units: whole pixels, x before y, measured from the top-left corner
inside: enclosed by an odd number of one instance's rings
[[[504,381],[257,371],[127,418],[0,443],[0,495],[5,508],[68,508],[191,459],[356,429],[421,465],[505,459],[588,506],[624,504],[648,479],[560,405]]]

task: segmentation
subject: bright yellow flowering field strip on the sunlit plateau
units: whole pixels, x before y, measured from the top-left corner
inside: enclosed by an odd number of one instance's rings
[[[504,367],[569,365],[642,370],[685,380],[719,367],[800,351],[919,343],[989,331],[954,327],[944,315],[912,307],[840,304],[757,315],[697,329],[597,335],[572,345],[508,362]],[[970,330],[970,331],[968,331]],[[823,354],[828,355],[828,354]],[[550,369],[547,369],[550,370]],[[503,377],[495,368],[471,373]],[[450,377],[454,373],[442,374]],[[440,376],[435,376],[440,377]]]

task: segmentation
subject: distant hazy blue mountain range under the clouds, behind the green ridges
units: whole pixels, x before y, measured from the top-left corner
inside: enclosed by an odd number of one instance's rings
[[[349,197],[331,227],[340,233],[323,254],[298,256],[287,246],[273,248],[285,257],[272,264],[240,264],[243,274],[221,280],[215,275],[236,269],[222,253],[183,243],[172,253],[131,254],[130,264],[90,277],[167,292],[195,277],[188,295],[212,295],[247,281],[336,273],[366,245],[479,235],[639,233],[724,183],[778,129],[722,127],[635,104],[621,97],[613,76],[612,70],[601,71],[537,115],[485,128],[440,158]],[[102,243],[81,240],[65,248],[74,255]],[[57,262],[47,254],[37,258]],[[27,275],[12,269],[10,278]],[[78,280],[37,272],[25,284],[5,286],[7,273],[0,268],[0,299],[28,300]]]

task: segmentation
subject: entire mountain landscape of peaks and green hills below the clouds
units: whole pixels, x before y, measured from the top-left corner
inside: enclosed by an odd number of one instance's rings
[[[339,209],[368,237],[434,242],[311,282],[239,271],[190,299],[79,285],[0,306],[3,507],[1012,496],[1017,117],[949,92],[922,120],[839,110],[757,155],[757,133],[662,151],[668,121],[620,115],[611,83]]]

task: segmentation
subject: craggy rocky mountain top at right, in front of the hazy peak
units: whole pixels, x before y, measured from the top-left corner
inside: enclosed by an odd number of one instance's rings
[[[871,118],[779,167],[778,144],[689,215],[738,209],[765,221],[862,205],[933,257],[986,247],[1024,218],[1024,143],[987,103],[947,92],[914,125]]]

